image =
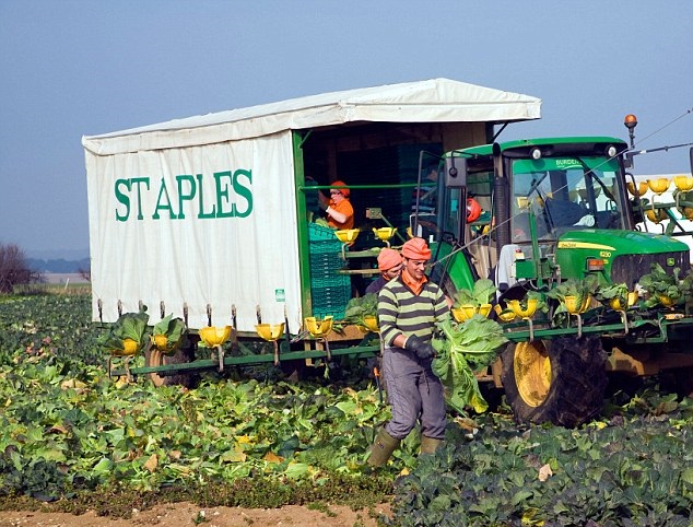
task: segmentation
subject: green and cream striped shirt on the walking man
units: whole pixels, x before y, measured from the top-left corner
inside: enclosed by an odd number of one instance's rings
[[[378,294],[378,321],[380,337],[387,347],[398,335],[416,335],[431,339],[435,323],[450,316],[445,295],[441,288],[428,281],[420,294],[414,294],[401,278],[390,280]]]

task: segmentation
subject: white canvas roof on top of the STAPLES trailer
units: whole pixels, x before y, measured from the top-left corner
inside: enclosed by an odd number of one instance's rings
[[[449,79],[363,87],[85,137],[97,155],[238,141],[344,122],[509,122],[539,119],[541,99]]]

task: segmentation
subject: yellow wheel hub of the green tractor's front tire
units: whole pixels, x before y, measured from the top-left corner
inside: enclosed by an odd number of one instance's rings
[[[551,387],[551,361],[542,342],[518,342],[514,372],[517,391],[526,405],[540,406]]]

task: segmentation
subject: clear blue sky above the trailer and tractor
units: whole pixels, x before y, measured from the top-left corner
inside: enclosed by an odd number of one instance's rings
[[[86,256],[81,137],[437,77],[525,93],[503,139],[693,141],[693,2],[0,0],[0,243]],[[688,149],[636,159],[689,172]]]

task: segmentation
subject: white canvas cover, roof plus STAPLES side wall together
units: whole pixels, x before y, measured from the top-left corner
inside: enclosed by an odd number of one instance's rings
[[[302,325],[292,130],[506,122],[541,101],[447,79],[326,93],[84,137],[93,317],[149,307],[192,328]]]

